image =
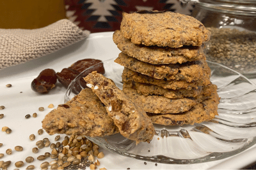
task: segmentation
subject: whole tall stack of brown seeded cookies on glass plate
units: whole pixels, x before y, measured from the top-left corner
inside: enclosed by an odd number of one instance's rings
[[[123,13],[113,41],[122,51],[123,92],[154,124],[184,125],[218,115],[216,85],[203,43],[211,33],[193,17],[170,11]]]

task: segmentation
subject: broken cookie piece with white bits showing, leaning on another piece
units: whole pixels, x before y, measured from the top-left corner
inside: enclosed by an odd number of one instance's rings
[[[97,72],[88,74],[84,80],[106,105],[108,115],[113,118],[120,134],[136,143],[152,140],[155,131],[150,118],[143,108],[132,102],[112,80]]]

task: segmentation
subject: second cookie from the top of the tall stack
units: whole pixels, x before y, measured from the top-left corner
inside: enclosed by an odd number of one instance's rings
[[[205,60],[202,46],[170,48],[135,45],[130,39],[124,38],[120,30],[114,32],[113,41],[122,52],[151,64],[181,64],[183,62],[191,62],[194,60]]]

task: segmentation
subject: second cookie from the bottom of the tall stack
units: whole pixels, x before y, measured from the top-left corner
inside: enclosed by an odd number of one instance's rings
[[[164,96],[144,96],[129,87],[124,87],[123,92],[130,97],[134,103],[140,103],[143,110],[150,113],[181,113],[188,111],[197,103],[193,97],[169,99]]]

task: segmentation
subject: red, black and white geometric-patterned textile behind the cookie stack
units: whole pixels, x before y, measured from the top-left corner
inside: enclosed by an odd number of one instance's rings
[[[68,20],[91,32],[120,29],[122,11],[165,10],[190,15],[193,5],[179,0],[65,0]]]

